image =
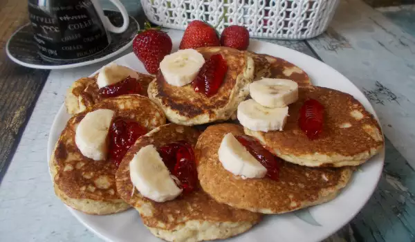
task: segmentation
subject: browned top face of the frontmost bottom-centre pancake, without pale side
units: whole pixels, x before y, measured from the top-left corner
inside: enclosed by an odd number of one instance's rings
[[[139,138],[122,160],[120,169],[116,174],[118,192],[124,201],[136,207],[147,227],[173,231],[192,221],[208,223],[248,222],[251,225],[259,221],[259,214],[216,203],[200,187],[191,194],[185,194],[164,203],[157,203],[141,196],[133,187],[129,174],[129,162],[142,147],[147,145],[161,147],[178,140],[186,140],[194,146],[199,134],[200,131],[192,127],[172,123],[163,125]]]

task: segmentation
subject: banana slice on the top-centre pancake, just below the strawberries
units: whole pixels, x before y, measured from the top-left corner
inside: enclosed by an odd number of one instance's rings
[[[160,62],[160,70],[166,82],[173,86],[185,86],[194,80],[205,58],[197,50],[178,50],[166,55]]]

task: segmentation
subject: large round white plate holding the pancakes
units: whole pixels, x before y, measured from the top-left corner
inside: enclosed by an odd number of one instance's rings
[[[181,35],[172,35],[175,48],[177,48],[180,39]],[[308,73],[313,84],[350,93],[362,102],[369,112],[375,114],[365,95],[346,77],[323,62],[295,50],[263,41],[252,40],[249,49],[257,53],[281,57],[296,64]],[[129,66],[136,71],[147,73],[133,53],[125,55],[115,62]],[[53,147],[68,119],[69,115],[62,105],[50,130],[48,158],[50,158]],[[362,165],[359,171],[356,171],[353,175],[349,185],[333,201],[299,212],[265,216],[264,221],[253,227],[252,230],[228,241],[315,242],[325,239],[348,223],[365,205],[376,188],[382,172],[384,158],[385,151],[382,151],[366,162],[365,165]],[[107,241],[160,241],[142,225],[136,210],[131,209],[107,216],[94,216],[77,212],[70,207],[68,209],[89,230]]]

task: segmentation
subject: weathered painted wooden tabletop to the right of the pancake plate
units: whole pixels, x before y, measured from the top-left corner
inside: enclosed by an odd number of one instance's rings
[[[329,29],[307,41],[323,62],[365,93],[387,136],[374,195],[325,242],[415,241],[415,38],[401,27],[360,0],[341,1]]]

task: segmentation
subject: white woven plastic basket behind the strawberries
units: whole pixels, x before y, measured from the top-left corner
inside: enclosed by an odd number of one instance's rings
[[[223,28],[237,24],[251,37],[308,39],[326,30],[340,0],[141,0],[149,21],[185,29],[194,19]]]

